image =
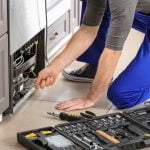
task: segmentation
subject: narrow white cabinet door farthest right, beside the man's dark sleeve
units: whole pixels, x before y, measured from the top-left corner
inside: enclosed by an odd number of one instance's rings
[[[80,0],[71,0],[71,31],[80,24]]]

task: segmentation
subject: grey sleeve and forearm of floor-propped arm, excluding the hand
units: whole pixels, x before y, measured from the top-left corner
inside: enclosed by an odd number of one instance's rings
[[[131,30],[138,0],[109,0],[111,24],[89,96],[99,99],[115,72],[124,42]]]

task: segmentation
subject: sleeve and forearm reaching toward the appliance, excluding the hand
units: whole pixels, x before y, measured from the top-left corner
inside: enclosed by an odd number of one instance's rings
[[[61,67],[60,71],[62,71],[89,48],[96,38],[106,5],[107,0],[87,0],[86,11],[79,31],[75,33],[64,51],[51,65],[58,64],[59,68]]]

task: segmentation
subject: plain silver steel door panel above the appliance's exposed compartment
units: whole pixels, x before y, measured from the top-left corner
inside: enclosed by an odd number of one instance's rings
[[[9,0],[10,55],[41,31],[45,19],[45,0]]]

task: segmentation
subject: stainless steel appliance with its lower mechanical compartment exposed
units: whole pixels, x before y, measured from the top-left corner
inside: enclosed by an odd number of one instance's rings
[[[32,94],[45,66],[45,0],[9,0],[10,106],[12,113]]]

